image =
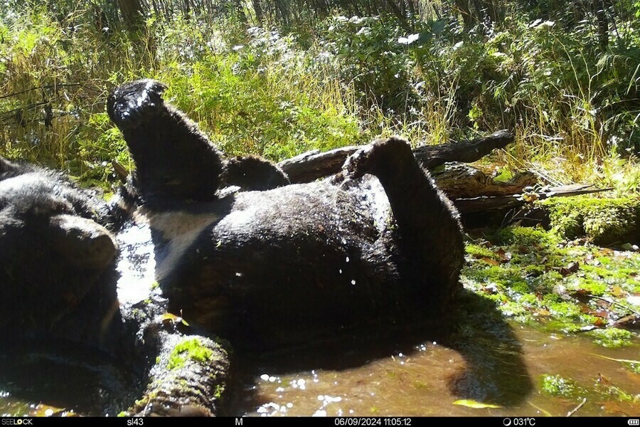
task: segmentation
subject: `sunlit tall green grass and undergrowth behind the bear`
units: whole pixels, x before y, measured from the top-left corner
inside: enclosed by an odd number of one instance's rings
[[[229,154],[277,161],[378,135],[434,144],[508,127],[516,143],[489,162],[557,184],[640,185],[640,111],[629,102],[639,35],[598,53],[587,27],[567,33],[522,17],[486,33],[431,21],[414,36],[384,16],[335,17],[297,37],[193,16],[151,16],[133,34],[96,28],[88,13],[0,21],[0,154],[108,189],[111,160],[133,165],[106,97],[157,78]]]

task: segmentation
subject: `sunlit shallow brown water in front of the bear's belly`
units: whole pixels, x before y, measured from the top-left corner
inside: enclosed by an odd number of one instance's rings
[[[586,390],[599,380],[640,394],[640,374],[600,357],[639,359],[638,340],[633,347],[606,349],[585,336],[509,326],[511,344],[498,337],[489,345],[502,348],[485,354],[483,344],[452,349],[456,346],[425,342],[347,369],[286,372],[270,367],[274,361],[262,360],[247,377],[245,397],[236,411],[247,416],[565,416],[582,396],[545,394],[541,377],[548,374],[572,379]],[[583,393],[587,401],[577,414],[640,415],[640,401],[609,395]],[[461,403],[472,402],[459,402],[462,399],[501,407],[469,408]]]

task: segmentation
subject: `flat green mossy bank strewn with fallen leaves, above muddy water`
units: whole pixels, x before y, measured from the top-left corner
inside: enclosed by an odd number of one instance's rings
[[[563,333],[601,327],[628,315],[626,297],[640,292],[640,253],[578,245],[540,228],[506,227],[492,239],[491,248],[469,245],[462,283],[518,322]]]

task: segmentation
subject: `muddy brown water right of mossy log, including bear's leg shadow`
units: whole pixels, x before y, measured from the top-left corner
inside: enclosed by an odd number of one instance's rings
[[[617,359],[638,347],[604,349],[583,336],[540,332],[506,322],[493,303],[465,293],[447,334],[414,331],[349,349],[319,344],[243,361],[252,366],[235,413],[247,416],[565,416],[576,399],[540,390],[543,374],[560,374],[585,389],[601,376],[638,394],[640,375]],[[446,338],[444,338],[446,337]],[[636,340],[637,342],[637,340]],[[304,384],[301,388],[299,384]],[[587,395],[577,415],[640,413],[640,402]],[[498,408],[470,408],[462,399]]]

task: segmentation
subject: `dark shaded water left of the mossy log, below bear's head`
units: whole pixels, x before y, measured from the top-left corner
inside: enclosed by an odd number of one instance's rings
[[[132,399],[137,377],[103,354],[34,347],[0,354],[0,416],[115,415]]]

